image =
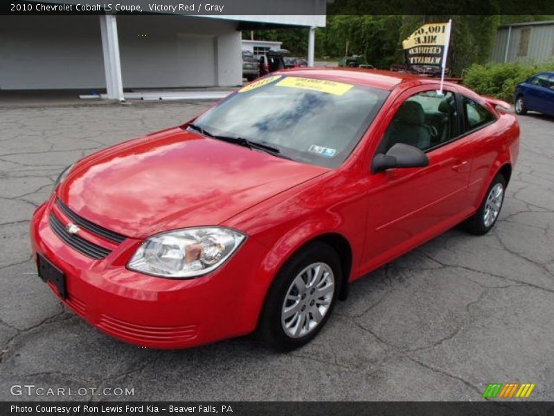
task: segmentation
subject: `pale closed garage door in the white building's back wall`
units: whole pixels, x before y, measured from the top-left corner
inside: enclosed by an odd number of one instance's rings
[[[215,79],[215,37],[177,34],[179,71],[184,87],[211,87]]]

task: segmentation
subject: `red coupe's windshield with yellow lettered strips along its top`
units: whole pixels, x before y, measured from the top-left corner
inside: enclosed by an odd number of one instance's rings
[[[268,76],[195,120],[211,135],[240,137],[298,162],[335,168],[350,155],[388,92],[316,78]]]

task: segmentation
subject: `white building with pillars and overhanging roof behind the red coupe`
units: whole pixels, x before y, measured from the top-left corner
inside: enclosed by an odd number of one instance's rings
[[[242,30],[306,26],[313,59],[322,15],[1,16],[0,89],[107,89],[123,99],[124,88],[240,85]]]

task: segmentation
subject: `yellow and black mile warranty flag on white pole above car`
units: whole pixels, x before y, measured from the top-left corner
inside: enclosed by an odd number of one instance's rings
[[[443,67],[450,41],[451,24],[451,21],[424,24],[404,40],[402,48],[406,55],[406,64]]]

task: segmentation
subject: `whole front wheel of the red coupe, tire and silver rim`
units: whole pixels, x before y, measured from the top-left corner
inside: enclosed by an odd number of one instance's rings
[[[329,319],[342,280],[337,252],[320,242],[294,254],[269,288],[258,330],[279,351],[309,343]]]

